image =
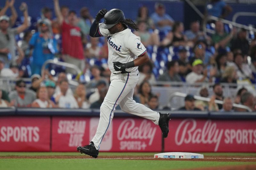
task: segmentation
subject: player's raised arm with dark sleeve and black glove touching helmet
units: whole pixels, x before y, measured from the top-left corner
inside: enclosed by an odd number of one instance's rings
[[[95,20],[93,21],[92,26],[90,28],[89,34],[91,37],[102,37],[108,34],[107,29],[103,29],[103,28],[100,29],[100,26],[99,26],[100,19],[102,19],[107,12],[108,10],[102,9],[96,15]]]

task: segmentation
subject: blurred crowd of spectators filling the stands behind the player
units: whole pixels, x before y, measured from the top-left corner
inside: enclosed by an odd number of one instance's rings
[[[14,0],[6,0],[0,11],[0,78],[17,78],[17,81],[13,91],[0,92],[0,106],[99,108],[110,83],[108,46],[105,38],[89,37],[94,19],[89,9],[82,7],[78,17],[76,11],[60,6],[59,0],[53,0],[56,18],[52,18],[50,8],[43,7],[41,19],[36,21],[36,31],[31,31],[29,10],[25,3],[20,5],[24,21],[15,26],[18,15],[14,3]],[[220,18],[225,18],[232,10],[219,0],[212,0],[209,5],[212,6],[207,5],[208,15]],[[219,14],[217,8],[222,8],[223,13]],[[10,17],[5,15],[8,9],[12,13]],[[199,21],[192,21],[190,29],[184,30],[182,22],[166,13],[164,4],[156,3],[154,10],[150,14],[148,7],[143,5],[136,18],[139,30],[134,34],[140,36],[148,48],[150,62],[139,67],[140,79],[134,91],[134,100],[151,109],[161,109],[159,94],[151,92],[151,86],[158,81],[191,85],[209,82],[215,84],[212,87],[214,94],[209,96],[208,87],[202,87],[199,92],[200,96],[209,97],[209,102],[195,100],[193,95],[188,94],[185,106],[180,109],[241,111],[230,108],[230,104],[237,103],[255,111],[252,93],[238,91],[235,98],[224,97],[220,83],[233,83],[236,88],[238,81],[256,82],[256,39],[249,39],[245,29],[234,27],[227,31],[220,21],[213,23],[214,34],[201,31]],[[15,35],[21,37],[19,42]],[[171,59],[161,57],[166,51],[172,56]],[[153,53],[157,57],[154,58]],[[43,63],[53,58],[76,65],[81,73],[76,75],[73,69],[50,65],[41,75]],[[164,71],[154,72],[160,61],[164,61],[164,66],[161,65]],[[52,72],[54,68],[59,68],[59,72]],[[73,91],[69,85],[70,73],[77,80],[84,78]],[[19,78],[31,78],[31,87]],[[223,101],[223,107],[215,100]]]

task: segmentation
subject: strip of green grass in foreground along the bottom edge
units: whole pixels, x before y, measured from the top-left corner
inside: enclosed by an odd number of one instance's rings
[[[76,169],[184,169],[210,166],[244,165],[245,162],[154,161],[102,159],[0,159],[1,170],[76,170]],[[252,164],[252,163],[251,163]]]

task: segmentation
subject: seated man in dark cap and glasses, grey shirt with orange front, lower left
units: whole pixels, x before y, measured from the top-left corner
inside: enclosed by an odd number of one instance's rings
[[[31,103],[36,100],[36,93],[32,90],[26,89],[26,83],[24,80],[16,81],[15,89],[16,90],[9,94],[11,106],[31,107]]]

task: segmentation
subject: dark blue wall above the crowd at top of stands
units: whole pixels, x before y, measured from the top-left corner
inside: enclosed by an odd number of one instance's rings
[[[29,7],[29,15],[33,18],[37,18],[40,16],[40,10],[44,6],[50,7],[53,9],[53,1],[52,0],[16,0],[15,1],[15,8],[18,11],[19,16],[22,13],[18,10],[19,5],[21,2],[26,2]],[[79,10],[81,7],[86,6],[89,7],[91,15],[94,17],[99,10],[102,8],[106,8],[108,10],[113,8],[119,8],[124,11],[126,18],[136,19],[138,14],[138,9],[142,5],[146,5],[149,8],[149,13],[154,12],[154,4],[156,1],[138,1],[138,0],[129,0],[129,1],[122,1],[122,0],[60,0],[61,5],[67,5],[70,9],[77,11],[79,15]],[[158,1],[159,2],[159,1]],[[3,7],[5,0],[0,1],[0,6]],[[175,20],[183,21],[183,2],[162,2],[166,7],[166,12]],[[8,11],[10,14],[10,11]]]

